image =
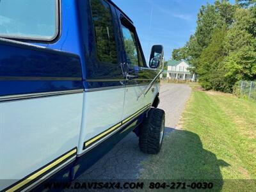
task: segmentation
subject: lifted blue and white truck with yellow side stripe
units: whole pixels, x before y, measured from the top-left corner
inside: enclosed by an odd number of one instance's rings
[[[0,191],[77,179],[131,131],[157,154],[163,60],[112,1],[1,0]]]

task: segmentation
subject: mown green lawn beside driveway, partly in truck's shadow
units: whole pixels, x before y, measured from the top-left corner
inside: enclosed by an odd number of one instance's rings
[[[255,191],[256,102],[194,86],[180,123],[143,162],[141,179],[209,179],[216,191]]]

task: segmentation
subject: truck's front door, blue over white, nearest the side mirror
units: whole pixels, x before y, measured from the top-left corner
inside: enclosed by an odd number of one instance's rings
[[[143,90],[154,79],[154,71],[149,70],[141,50],[135,27],[122,13],[118,12],[120,36],[124,46],[123,70],[126,73],[125,101],[122,119],[129,119],[134,113],[151,104],[152,92],[141,95]]]

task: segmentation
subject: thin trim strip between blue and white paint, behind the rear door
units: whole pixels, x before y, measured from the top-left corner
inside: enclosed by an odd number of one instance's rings
[[[58,96],[58,95],[67,95],[67,94],[74,94],[74,93],[83,93],[83,89],[79,90],[67,90],[67,91],[60,91],[60,92],[44,92],[44,93],[29,93],[29,94],[20,94],[20,95],[7,95],[0,97],[0,102],[8,102],[12,100],[22,100],[22,99],[35,99],[38,97],[51,97],[51,96]]]

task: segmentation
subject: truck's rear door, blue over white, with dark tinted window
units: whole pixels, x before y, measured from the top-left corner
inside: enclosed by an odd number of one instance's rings
[[[86,90],[78,154],[90,150],[118,131],[124,108],[125,82],[120,62],[115,8],[105,0],[90,0],[86,57]]]

